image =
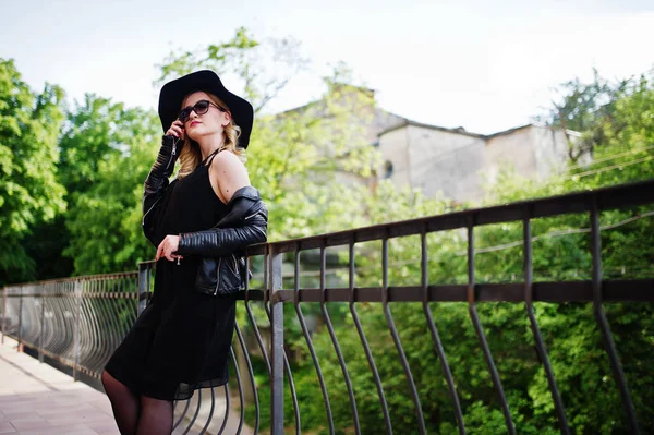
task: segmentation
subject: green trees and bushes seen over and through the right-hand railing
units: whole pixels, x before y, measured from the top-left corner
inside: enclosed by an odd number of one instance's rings
[[[580,84],[580,86],[590,86]],[[605,89],[606,90],[606,89]],[[598,110],[585,119],[582,133],[602,130],[594,145],[594,160],[586,166],[571,164],[570,169],[545,182],[525,180],[505,171],[488,192],[486,204],[507,203],[552,196],[584,189],[596,189],[650,179],[653,144],[651,116],[654,109],[652,80],[620,82],[619,89],[607,90],[610,116]],[[573,101],[574,94],[568,96]],[[580,105],[584,105],[583,99]],[[583,108],[572,112],[586,113]],[[573,109],[573,110],[572,110]],[[589,133],[590,134],[590,133]],[[598,136],[597,136],[598,137]],[[573,157],[573,156],[572,156]],[[441,214],[446,202],[425,201],[409,192],[396,194],[382,186],[382,197],[370,197],[362,208],[373,222],[401,220],[413,216]],[[384,200],[382,200],[384,198]],[[424,204],[424,208],[421,205]],[[651,207],[650,207],[651,208]],[[652,277],[654,228],[646,207],[605,212],[601,216],[602,258],[605,279]],[[590,279],[592,271],[590,217],[568,215],[535,219],[533,268],[536,281]],[[523,280],[521,225],[493,225],[475,229],[475,273],[477,281]],[[428,234],[429,282],[467,282],[465,233],[445,231]],[[365,255],[356,259],[356,286],[380,285],[380,244],[371,243]],[[419,285],[420,240],[416,237],[389,242],[389,285]],[[346,258],[341,258],[342,262]],[[347,274],[342,274],[343,280]],[[342,282],[342,281],[341,281]],[[335,305],[335,304],[330,304]],[[359,304],[359,315],[379,370],[390,408],[393,430],[414,433],[415,410],[407,378],[399,364],[393,341],[387,331],[386,317],[375,304]],[[617,343],[634,400],[641,430],[651,432],[654,377],[643,367],[654,354],[652,305],[644,303],[605,304],[613,337]],[[544,371],[534,350],[524,306],[509,303],[481,303],[477,306],[486,338],[504,384],[513,421],[519,433],[558,433]],[[335,309],[336,311],[336,309]],[[452,433],[456,421],[451,401],[436,360],[425,325],[422,306],[391,305],[391,313],[404,346],[427,420],[427,430]],[[432,305],[433,317],[452,370],[468,433],[506,433],[504,416],[491,383],[486,363],[480,355],[479,340],[472,328],[468,306],[459,303]],[[536,304],[536,316],[549,353],[553,370],[566,406],[568,421],[577,433],[627,433],[628,423],[620,404],[617,386],[604,351],[600,330],[590,304]],[[332,321],[335,321],[332,316]],[[375,386],[363,354],[359,336],[349,315],[338,322],[337,335],[350,377],[354,384],[364,432],[385,431]],[[320,324],[320,322],[318,322]],[[325,328],[313,337],[320,365],[332,399],[337,427],[352,426],[346,385]],[[302,349],[295,354],[306,354]],[[314,375],[310,360],[300,363],[296,384],[308,385]],[[306,376],[306,380],[304,380]],[[301,379],[298,379],[300,377]],[[315,390],[315,382],[313,383]],[[320,398],[302,394],[303,421],[307,427],[325,427]],[[313,401],[312,401],[313,400]],[[291,415],[288,415],[289,418]],[[347,432],[347,431],[346,431]]]

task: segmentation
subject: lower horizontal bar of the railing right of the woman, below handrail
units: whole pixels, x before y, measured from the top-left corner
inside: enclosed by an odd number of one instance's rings
[[[654,301],[654,279],[625,279],[603,281],[605,302]],[[354,302],[383,302],[382,287],[354,288]],[[433,285],[427,288],[429,302],[468,302],[467,285]],[[320,302],[320,289],[300,289],[300,302]],[[477,302],[524,302],[524,282],[477,283]],[[293,290],[278,290],[282,302],[293,302]],[[326,302],[350,302],[348,288],[325,289]],[[421,286],[389,287],[389,302],[422,302],[424,288]],[[533,301],[538,302],[592,302],[592,281],[535,282]]]

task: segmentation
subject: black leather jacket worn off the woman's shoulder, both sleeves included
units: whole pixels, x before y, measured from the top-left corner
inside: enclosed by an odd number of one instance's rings
[[[145,237],[157,247],[167,235],[159,229],[168,194],[177,182],[168,180],[181,146],[181,141],[177,142],[171,135],[162,137],[157,160],[145,180],[142,226]],[[243,288],[246,270],[242,249],[267,239],[268,209],[256,189],[239,189],[228,206],[229,213],[215,227],[180,234],[175,252],[203,256],[195,287],[214,295]]]

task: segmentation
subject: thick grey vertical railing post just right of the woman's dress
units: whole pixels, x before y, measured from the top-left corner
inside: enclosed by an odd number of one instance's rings
[[[281,254],[270,245],[268,251],[268,277],[270,298],[270,322],[272,330],[272,349],[270,375],[270,434],[283,435],[283,302],[279,300],[277,290],[282,288]]]

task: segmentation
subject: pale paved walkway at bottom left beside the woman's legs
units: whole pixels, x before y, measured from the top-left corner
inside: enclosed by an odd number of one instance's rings
[[[37,359],[0,345],[0,434],[118,435],[107,397]]]

